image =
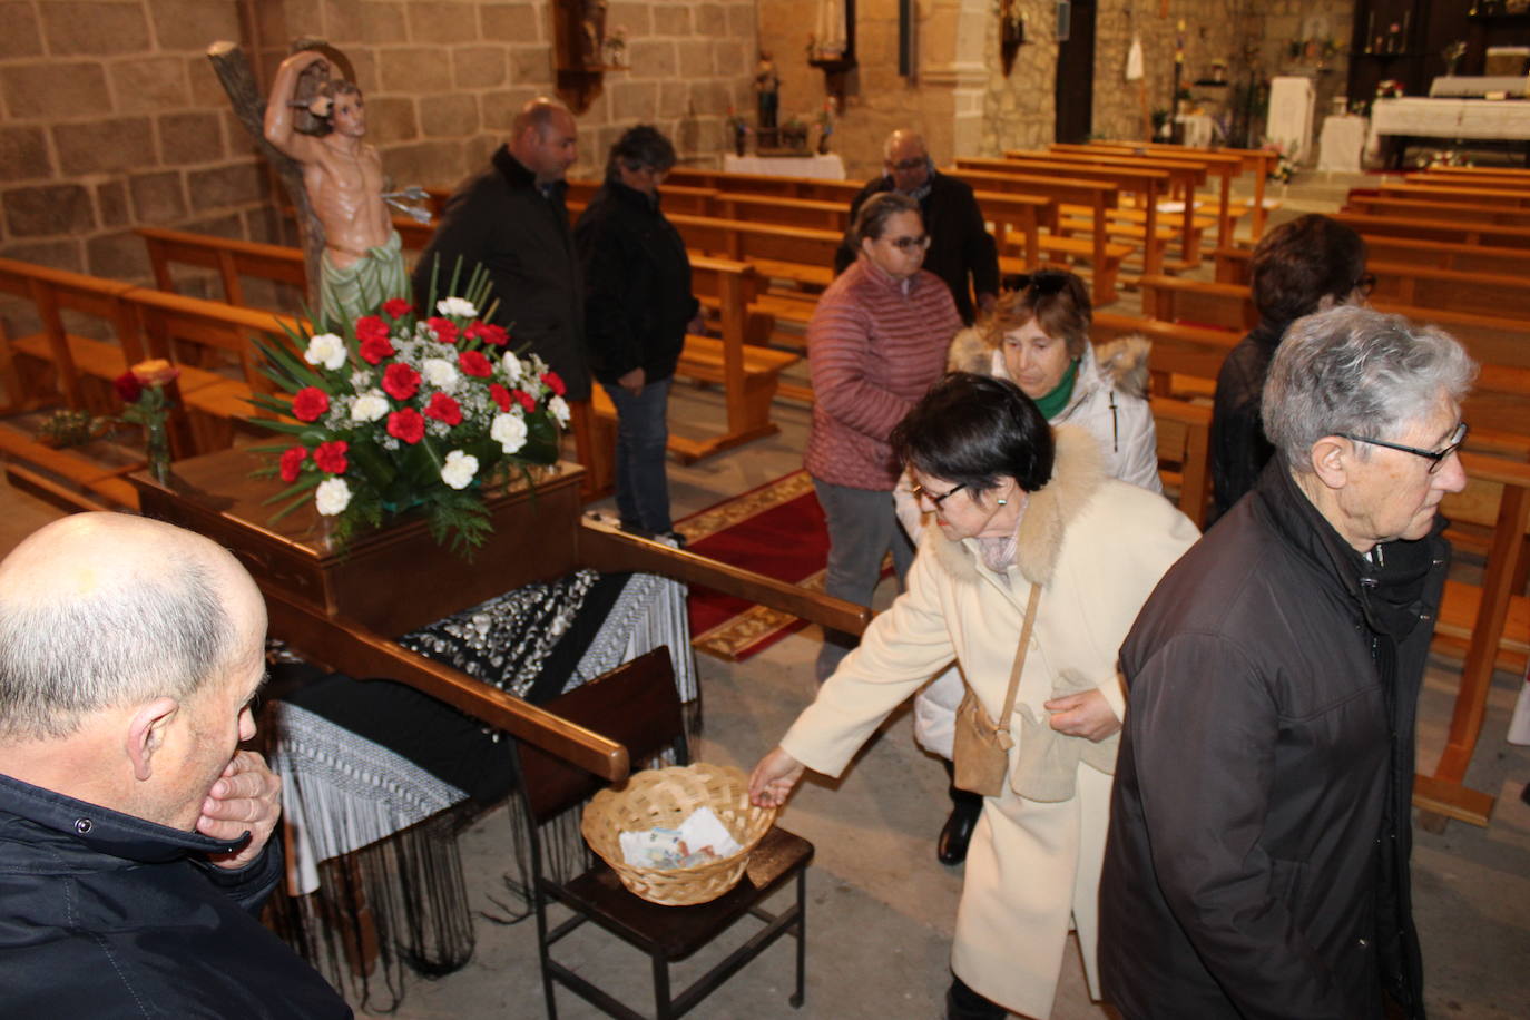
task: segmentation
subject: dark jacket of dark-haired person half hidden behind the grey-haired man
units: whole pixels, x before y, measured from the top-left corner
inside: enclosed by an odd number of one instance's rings
[[[1227,352],[1216,373],[1212,407],[1210,471],[1215,521],[1259,480],[1274,447],[1264,434],[1264,379],[1288,323],[1259,323]]]

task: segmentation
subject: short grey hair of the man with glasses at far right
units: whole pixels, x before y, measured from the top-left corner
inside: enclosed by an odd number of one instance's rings
[[[1264,384],[1264,433],[1288,466],[1311,471],[1308,451],[1323,436],[1395,436],[1427,414],[1441,390],[1460,401],[1475,378],[1466,349],[1434,326],[1368,307],[1330,309],[1285,330]]]

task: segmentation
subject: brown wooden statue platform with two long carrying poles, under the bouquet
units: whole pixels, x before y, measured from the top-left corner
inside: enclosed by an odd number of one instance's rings
[[[575,567],[707,584],[851,633],[871,619],[860,606],[581,521],[578,465],[546,469],[534,491],[520,485],[494,495],[494,534],[471,563],[438,546],[419,515],[358,535],[344,552],[311,508],[272,525],[266,500],[285,485],[254,477],[260,465],[259,454],[223,450],[177,460],[167,485],[144,471],[130,480],[144,515],[200,532],[239,557],[265,595],[269,633],[309,661],[409,684],[610,781],[627,774],[623,745],[407,651],[393,638]]]

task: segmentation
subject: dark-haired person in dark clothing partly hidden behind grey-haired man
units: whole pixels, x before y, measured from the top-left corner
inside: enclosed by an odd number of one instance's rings
[[[1227,353],[1212,408],[1212,520],[1253,488],[1274,447],[1259,402],[1270,359],[1287,326],[1340,304],[1365,304],[1375,278],[1365,272],[1365,240],[1343,223],[1308,213],[1264,236],[1248,286],[1259,324]]]

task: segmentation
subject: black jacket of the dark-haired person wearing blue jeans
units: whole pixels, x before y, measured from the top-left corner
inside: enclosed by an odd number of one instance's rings
[[[574,226],[584,271],[584,338],[601,382],[643,369],[647,382],[675,375],[685,326],[699,304],[690,292],[685,242],[658,199],[607,180]]]

